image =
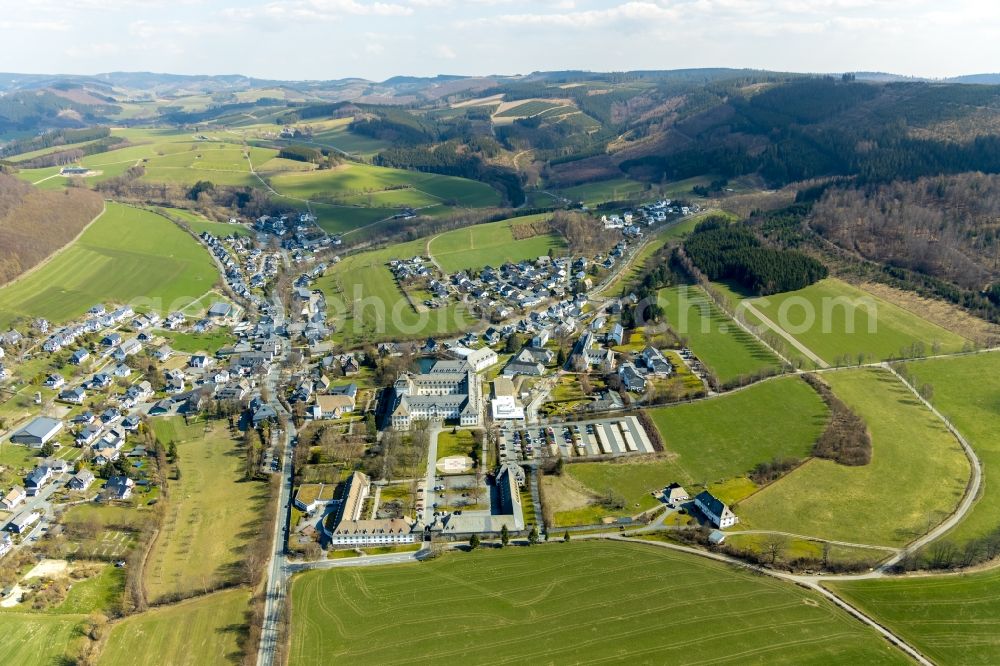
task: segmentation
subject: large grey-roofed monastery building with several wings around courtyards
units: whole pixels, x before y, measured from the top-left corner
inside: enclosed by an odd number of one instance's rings
[[[393,400],[395,430],[408,430],[413,421],[427,419],[459,419],[464,426],[475,426],[482,418],[479,375],[465,361],[438,361],[427,373],[401,373]]]

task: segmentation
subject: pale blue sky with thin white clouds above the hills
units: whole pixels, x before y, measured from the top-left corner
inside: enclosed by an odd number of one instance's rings
[[[1000,71],[984,0],[0,0],[0,69],[338,79]]]

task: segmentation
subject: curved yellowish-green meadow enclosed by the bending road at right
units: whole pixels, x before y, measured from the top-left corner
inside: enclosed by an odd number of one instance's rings
[[[810,460],[741,502],[741,520],[756,529],[880,546],[902,546],[940,523],[970,473],[951,433],[887,371],[823,378],[868,424],[871,462]]]

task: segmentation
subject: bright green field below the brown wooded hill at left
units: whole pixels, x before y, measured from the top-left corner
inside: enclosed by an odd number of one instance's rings
[[[109,203],[79,240],[0,289],[0,327],[19,317],[66,321],[100,302],[165,314],[189,306],[217,280],[208,252],[175,224]]]

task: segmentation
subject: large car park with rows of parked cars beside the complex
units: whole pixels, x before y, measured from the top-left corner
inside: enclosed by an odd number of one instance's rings
[[[520,462],[544,455],[573,458],[653,452],[646,431],[634,416],[500,431],[501,462]]]

